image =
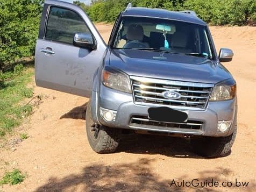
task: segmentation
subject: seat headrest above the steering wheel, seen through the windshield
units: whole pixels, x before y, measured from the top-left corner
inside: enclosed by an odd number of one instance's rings
[[[144,30],[141,25],[130,25],[127,30],[126,39],[127,40],[138,40],[142,41],[144,38]]]

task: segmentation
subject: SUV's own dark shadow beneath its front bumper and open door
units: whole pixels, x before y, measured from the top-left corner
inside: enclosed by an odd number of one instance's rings
[[[86,120],[87,104],[88,103],[85,103],[75,107],[62,115],[60,119],[72,118]],[[135,133],[123,135],[117,152],[162,154],[167,157],[175,158],[203,158],[193,153],[189,139]]]

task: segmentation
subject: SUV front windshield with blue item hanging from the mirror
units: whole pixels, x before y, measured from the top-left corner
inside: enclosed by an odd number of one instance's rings
[[[168,19],[123,17],[113,47],[212,58],[205,26]]]

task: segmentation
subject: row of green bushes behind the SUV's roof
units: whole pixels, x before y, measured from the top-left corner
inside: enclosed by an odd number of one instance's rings
[[[99,0],[87,7],[87,12],[95,22],[114,22],[129,2],[147,8],[194,10],[210,25],[256,24],[255,0]]]

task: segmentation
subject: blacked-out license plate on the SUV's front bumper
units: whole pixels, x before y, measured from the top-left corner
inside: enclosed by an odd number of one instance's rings
[[[161,106],[148,109],[148,118],[158,122],[184,123],[188,120],[188,112]]]

